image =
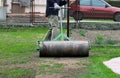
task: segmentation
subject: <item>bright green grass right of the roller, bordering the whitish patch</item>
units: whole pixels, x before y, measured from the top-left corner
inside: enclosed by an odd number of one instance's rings
[[[120,47],[92,47],[92,55],[89,56],[90,64],[84,74],[75,75],[75,78],[120,78],[107,68],[103,61],[120,56]]]

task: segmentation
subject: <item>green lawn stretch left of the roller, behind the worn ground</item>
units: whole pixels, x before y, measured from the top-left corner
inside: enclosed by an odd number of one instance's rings
[[[42,40],[46,28],[0,29],[0,53],[35,51],[35,42]]]

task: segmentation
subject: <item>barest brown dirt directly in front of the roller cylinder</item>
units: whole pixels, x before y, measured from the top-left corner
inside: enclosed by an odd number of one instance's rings
[[[86,58],[44,58],[44,64],[63,64],[56,74],[40,74],[36,78],[73,78],[75,74],[83,74],[89,60]],[[42,63],[42,62],[41,62]],[[43,64],[43,63],[42,63]],[[49,68],[48,68],[49,69]]]

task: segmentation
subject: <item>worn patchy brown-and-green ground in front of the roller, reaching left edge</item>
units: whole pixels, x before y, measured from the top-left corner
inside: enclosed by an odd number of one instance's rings
[[[34,52],[32,55],[21,57],[21,59],[25,58],[28,60],[25,63],[12,63],[14,62],[12,59],[6,62],[1,59],[1,62],[7,64],[1,65],[0,69],[20,68],[32,70],[32,74],[25,74],[18,78],[73,78],[76,74],[84,74],[84,70],[87,69],[87,65],[89,64],[88,57],[40,58],[38,55],[38,52]],[[3,74],[0,77],[6,78],[6,75]]]

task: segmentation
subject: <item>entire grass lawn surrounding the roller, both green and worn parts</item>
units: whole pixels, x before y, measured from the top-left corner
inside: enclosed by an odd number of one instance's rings
[[[68,78],[120,78],[102,63],[120,56],[120,47],[92,47],[90,56],[85,58],[39,58],[36,41],[42,40],[47,30],[0,28],[0,78],[34,78],[58,73],[67,73],[71,76]]]

